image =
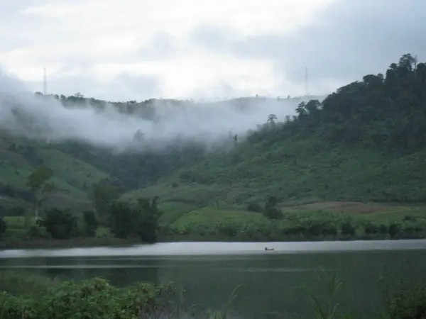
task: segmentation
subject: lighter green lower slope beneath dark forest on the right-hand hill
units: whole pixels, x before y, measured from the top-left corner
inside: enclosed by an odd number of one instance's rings
[[[226,206],[261,202],[265,196],[281,201],[425,201],[425,156],[421,151],[389,157],[300,136],[268,148],[265,142],[246,142],[229,155],[181,169],[129,196]]]

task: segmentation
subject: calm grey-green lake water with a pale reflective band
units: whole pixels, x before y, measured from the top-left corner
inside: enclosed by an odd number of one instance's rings
[[[275,250],[266,252],[265,246]],[[242,284],[232,308],[239,318],[302,315],[311,306],[307,289],[320,291],[317,267],[344,281],[342,309],[362,318],[382,310],[380,276],[426,279],[426,240],[354,242],[175,242],[126,248],[0,251],[1,269],[27,269],[62,279],[103,276],[118,286],[135,281],[173,281],[185,287],[187,305],[221,308]],[[324,291],[324,290],[322,290]],[[323,293],[324,294],[324,293]]]

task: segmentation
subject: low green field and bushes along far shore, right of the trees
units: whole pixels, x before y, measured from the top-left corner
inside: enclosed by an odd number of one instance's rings
[[[398,215],[391,219],[382,216],[383,213],[354,216],[332,211],[285,211],[280,220],[271,220],[258,213],[201,208],[163,227],[162,233],[172,238],[173,235],[200,235],[207,240],[242,241],[420,238],[426,235],[424,216],[416,221],[404,221],[403,214],[399,220]],[[393,224],[399,226],[397,233],[391,235],[388,230]],[[371,230],[367,233],[366,229]]]

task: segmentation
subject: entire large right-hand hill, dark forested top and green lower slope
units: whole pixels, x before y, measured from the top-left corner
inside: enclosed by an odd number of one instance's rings
[[[403,55],[297,116],[249,133],[214,155],[136,192],[239,206],[280,201],[426,201],[426,65]],[[278,119],[283,120],[283,119]]]

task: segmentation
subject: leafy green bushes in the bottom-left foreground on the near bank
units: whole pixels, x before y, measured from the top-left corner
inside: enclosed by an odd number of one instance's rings
[[[233,296],[233,295],[231,295]],[[229,305],[228,305],[229,306]],[[198,310],[198,318],[226,319],[223,313]],[[193,318],[182,309],[182,292],[171,284],[134,284],[123,289],[108,281],[65,281],[42,294],[0,293],[2,319],[149,319]]]

